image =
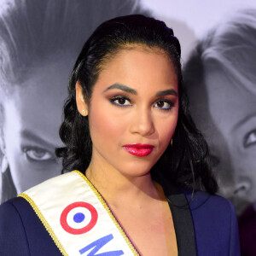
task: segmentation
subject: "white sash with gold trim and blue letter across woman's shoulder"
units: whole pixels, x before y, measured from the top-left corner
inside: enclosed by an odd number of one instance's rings
[[[102,196],[79,171],[20,194],[63,255],[139,255]]]

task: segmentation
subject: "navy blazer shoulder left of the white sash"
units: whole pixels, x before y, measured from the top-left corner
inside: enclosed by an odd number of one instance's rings
[[[31,205],[22,197],[0,206],[0,255],[61,255]]]

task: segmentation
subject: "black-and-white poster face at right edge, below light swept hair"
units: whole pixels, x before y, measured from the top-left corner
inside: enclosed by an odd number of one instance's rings
[[[201,86],[207,94],[200,87],[191,94],[193,117],[207,137],[220,193],[239,213],[256,199],[256,96],[217,67],[207,69]]]

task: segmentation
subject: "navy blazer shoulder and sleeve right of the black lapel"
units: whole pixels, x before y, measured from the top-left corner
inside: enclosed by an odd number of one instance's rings
[[[185,194],[189,200],[191,194]],[[214,255],[240,255],[236,211],[229,200],[197,191],[189,207],[200,255],[207,255],[209,247]]]

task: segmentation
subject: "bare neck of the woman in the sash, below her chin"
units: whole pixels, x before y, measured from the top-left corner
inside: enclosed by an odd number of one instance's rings
[[[94,165],[93,162],[85,172],[103,198],[111,205],[121,205],[132,202],[133,206],[140,206],[148,200],[165,200],[160,185],[154,183],[150,172],[143,176],[131,177],[104,166]]]

